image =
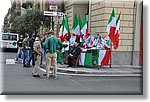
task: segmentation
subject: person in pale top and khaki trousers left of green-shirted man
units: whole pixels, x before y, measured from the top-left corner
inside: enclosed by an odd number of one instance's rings
[[[35,42],[33,44],[33,51],[34,51],[34,60],[35,60],[35,66],[33,68],[32,75],[33,77],[40,77],[38,74],[40,64],[41,64],[41,41],[39,41],[39,38],[36,37]]]

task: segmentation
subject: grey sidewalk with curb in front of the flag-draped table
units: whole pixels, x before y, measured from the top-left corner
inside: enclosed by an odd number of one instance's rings
[[[67,67],[58,64],[58,74],[76,76],[143,76],[142,66],[112,65],[109,67]]]

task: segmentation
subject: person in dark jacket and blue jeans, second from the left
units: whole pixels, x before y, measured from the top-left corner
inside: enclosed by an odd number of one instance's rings
[[[26,33],[23,40],[23,67],[31,67],[29,63],[29,35]]]

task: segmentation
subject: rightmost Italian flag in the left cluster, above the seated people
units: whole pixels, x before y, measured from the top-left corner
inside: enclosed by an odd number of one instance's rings
[[[81,33],[83,34],[83,36],[88,38],[88,26],[87,26],[87,20],[86,20],[86,13],[84,13],[84,18],[83,18],[83,22],[81,26]]]

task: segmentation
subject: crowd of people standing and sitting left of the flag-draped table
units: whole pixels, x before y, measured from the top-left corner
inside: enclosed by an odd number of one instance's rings
[[[32,71],[33,77],[40,77],[38,74],[39,68],[42,64],[46,64],[46,79],[52,76],[57,79],[57,54],[63,53],[63,62],[68,64],[68,67],[72,67],[74,60],[80,55],[80,44],[74,42],[74,46],[69,46],[69,39],[65,39],[61,42],[59,38],[54,36],[54,32],[49,32],[43,38],[40,36],[32,35],[29,38],[28,34],[19,37],[17,42],[18,53],[16,60],[22,59],[23,67],[34,67]],[[72,50],[70,51],[70,48]],[[32,62],[32,63],[31,63]]]

